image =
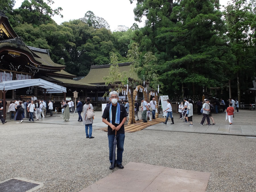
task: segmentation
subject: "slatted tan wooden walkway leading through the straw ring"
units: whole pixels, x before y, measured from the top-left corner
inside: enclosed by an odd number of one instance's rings
[[[164,118],[152,119],[152,121],[148,121],[147,123],[144,123],[142,120],[136,121],[136,123],[134,123],[134,124],[124,126],[125,127],[125,133],[133,133],[133,132],[136,132],[136,131],[140,131],[140,130],[146,128],[146,127],[149,127],[151,125],[155,125],[155,124],[158,124],[158,123],[162,123],[164,121],[165,121]],[[103,130],[103,131],[108,132],[108,127],[103,127],[103,128],[94,129],[94,130]]]

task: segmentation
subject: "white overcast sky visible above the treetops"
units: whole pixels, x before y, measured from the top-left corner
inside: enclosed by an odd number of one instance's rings
[[[20,7],[24,0],[16,0],[15,8]],[[52,8],[61,7],[63,11],[60,16],[52,17],[55,22],[61,24],[64,21],[79,19],[84,17],[87,11],[92,11],[96,16],[103,17],[110,25],[111,31],[117,29],[118,25],[131,27],[134,20],[133,9],[136,3],[131,4],[129,0],[54,0]],[[220,0],[220,4],[226,5],[228,0]],[[137,22],[139,27],[144,26],[144,22]]]

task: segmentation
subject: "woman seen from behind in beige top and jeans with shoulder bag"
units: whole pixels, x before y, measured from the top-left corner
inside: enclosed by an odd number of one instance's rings
[[[93,106],[90,104],[91,98],[87,97],[86,98],[86,103],[83,106],[83,125],[85,125],[85,133],[86,133],[86,138],[93,139],[94,137],[92,136],[92,123],[93,123]],[[89,134],[88,134],[88,128],[89,128]]]

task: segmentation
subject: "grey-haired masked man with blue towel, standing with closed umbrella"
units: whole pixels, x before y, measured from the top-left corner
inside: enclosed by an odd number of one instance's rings
[[[125,107],[118,103],[119,94],[116,91],[112,91],[109,93],[109,99],[111,101],[111,104],[106,106],[102,115],[102,122],[108,125],[108,147],[109,160],[111,164],[109,169],[115,168],[115,166],[112,167],[113,142],[115,139],[115,132],[117,141],[117,158],[115,161],[115,165],[119,169],[123,169],[123,144],[125,139],[125,130],[123,123],[127,118],[127,113]]]

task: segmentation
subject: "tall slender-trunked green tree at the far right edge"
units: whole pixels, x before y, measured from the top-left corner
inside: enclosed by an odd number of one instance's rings
[[[256,15],[253,1],[233,0],[225,7],[224,12],[230,46],[236,60],[232,69],[237,79],[238,101],[241,100],[241,77],[255,75],[255,28]],[[246,71],[246,72],[245,72]],[[251,78],[250,78],[251,80]],[[247,87],[248,89],[248,87]]]

